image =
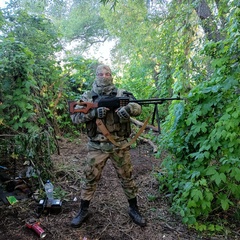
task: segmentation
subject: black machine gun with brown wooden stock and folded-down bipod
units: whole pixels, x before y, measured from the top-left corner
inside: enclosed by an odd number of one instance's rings
[[[141,99],[141,100],[132,100],[128,97],[107,97],[101,99],[99,102],[81,102],[81,101],[68,101],[69,113],[88,113],[91,109],[106,107],[110,110],[116,110],[119,107],[126,106],[130,102],[138,103],[139,105],[149,105],[154,104],[154,112],[152,116],[152,125],[154,124],[155,116],[158,123],[158,131],[160,133],[160,119],[158,113],[158,104],[162,104],[165,101],[173,101],[173,100],[184,100],[180,98],[180,94],[175,98],[151,98],[151,99]],[[75,109],[76,105],[82,106],[83,108]]]

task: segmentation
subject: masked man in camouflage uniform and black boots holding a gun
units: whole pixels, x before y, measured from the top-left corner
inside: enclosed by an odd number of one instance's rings
[[[92,91],[82,95],[83,102],[98,102],[100,99],[112,97],[129,97],[133,95],[113,84],[111,69],[106,65],[100,65],[96,70],[96,79]],[[77,106],[76,108],[82,108]],[[88,214],[88,207],[100,180],[102,170],[108,159],[111,159],[117,175],[121,181],[124,193],[129,202],[129,215],[139,226],[145,226],[146,221],[141,216],[137,206],[137,187],[132,178],[132,164],[130,160],[129,146],[121,149],[115,146],[101,132],[96,124],[96,119],[101,119],[111,137],[119,145],[123,146],[131,133],[130,116],[141,114],[141,106],[130,102],[117,110],[110,110],[106,107],[99,107],[90,110],[88,113],[75,113],[71,115],[75,124],[86,123],[88,142],[88,155],[86,159],[85,181],[81,191],[80,210],[71,222],[72,227],[80,227]]]

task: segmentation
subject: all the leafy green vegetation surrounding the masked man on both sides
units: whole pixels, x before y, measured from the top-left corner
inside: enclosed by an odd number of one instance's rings
[[[159,191],[171,193],[171,208],[187,225],[222,230],[213,216],[239,220],[238,1],[101,2],[12,0],[1,11],[0,144],[20,146],[15,159],[24,155],[51,175],[56,138],[80,130],[67,100],[94,81],[98,60],[82,53],[114,40],[117,86],[138,99],[186,98],[159,106],[158,155],[161,147],[171,153],[156,173]],[[69,42],[76,47],[64,51]],[[143,109],[140,120],[152,111]]]

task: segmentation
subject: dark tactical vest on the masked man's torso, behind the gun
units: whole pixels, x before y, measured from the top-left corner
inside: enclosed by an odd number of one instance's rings
[[[109,98],[109,96],[116,97],[118,94],[120,94],[119,90],[113,90],[110,95],[98,95],[95,92],[91,92],[92,100],[93,102],[98,102],[100,99],[103,98]],[[118,97],[118,96],[117,96]],[[106,117],[104,119],[101,119],[108,129],[108,131],[118,137],[129,137],[131,133],[131,125],[130,125],[130,119],[122,121],[115,110],[109,110],[107,111]],[[97,128],[96,125],[96,118],[92,119],[91,121],[86,123],[87,128],[87,135],[90,139],[93,139],[96,135],[101,135],[101,131]],[[105,138],[103,138],[105,139]]]

